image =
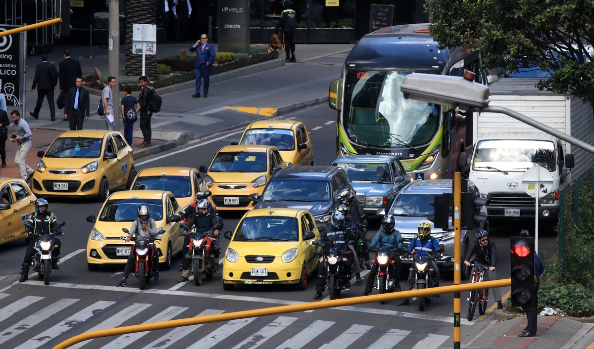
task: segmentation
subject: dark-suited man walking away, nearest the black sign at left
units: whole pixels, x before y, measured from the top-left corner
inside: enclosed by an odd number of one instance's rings
[[[43,97],[48,99],[50,119],[56,120],[56,105],[53,102],[53,89],[58,83],[59,73],[56,70],[56,66],[48,62],[48,54],[43,53],[41,55],[41,63],[35,67],[35,77],[33,77],[33,85],[29,89],[29,92],[33,91],[37,87],[37,104],[33,112],[29,112],[35,119],[39,119],[39,110],[41,110],[41,104],[43,103]]]

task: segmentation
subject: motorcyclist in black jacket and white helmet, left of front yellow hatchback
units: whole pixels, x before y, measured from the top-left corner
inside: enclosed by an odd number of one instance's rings
[[[192,226],[196,227],[197,233],[206,233],[208,230],[214,229],[213,233],[215,235],[219,235],[220,223],[219,217],[213,212],[210,211],[210,202],[207,199],[200,199],[196,203],[196,210],[191,214],[189,217],[189,221],[186,224],[188,228]],[[188,230],[185,230],[188,231]],[[185,256],[188,253],[188,245],[189,245],[190,236],[187,235],[184,237],[184,248],[182,249],[182,277],[179,278],[178,283],[185,283],[189,279],[189,266],[191,259],[186,258]],[[211,248],[213,249],[214,253],[214,269],[219,270],[219,243],[217,239],[213,237],[208,237],[211,240]]]

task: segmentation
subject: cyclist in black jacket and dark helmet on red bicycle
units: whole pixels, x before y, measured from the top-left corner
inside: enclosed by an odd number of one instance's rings
[[[466,253],[464,264],[470,266],[470,257],[475,255],[475,269],[487,268],[485,271],[485,280],[497,280],[497,272],[495,272],[495,264],[497,264],[497,246],[494,242],[489,240],[489,232],[480,230],[476,233],[476,241]],[[495,295],[495,302],[497,302],[497,309],[503,309],[501,304],[501,291],[498,287],[493,288]]]

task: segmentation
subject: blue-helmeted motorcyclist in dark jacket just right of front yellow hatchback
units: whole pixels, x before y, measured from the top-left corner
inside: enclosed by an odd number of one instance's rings
[[[335,247],[339,250],[346,245],[350,240],[355,239],[355,235],[345,224],[345,215],[339,211],[334,211],[330,215],[330,223],[326,231],[320,233],[320,245],[326,248]],[[351,264],[353,262],[353,255],[346,254],[343,258],[347,258],[347,261],[343,263],[344,275],[350,278]],[[322,292],[326,289],[326,263],[323,261],[318,262],[318,281],[315,285],[315,296],[314,299],[321,299],[323,297]],[[350,287],[349,281],[347,281],[348,287]]]

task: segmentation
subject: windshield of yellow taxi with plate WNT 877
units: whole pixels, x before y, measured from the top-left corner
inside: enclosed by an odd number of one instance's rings
[[[138,219],[138,206],[144,205],[150,210],[150,218],[163,219],[163,203],[158,199],[115,199],[109,200],[99,215],[102,222],[132,222]]]

